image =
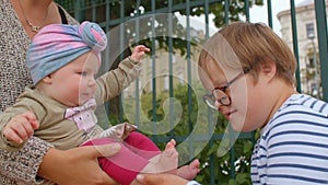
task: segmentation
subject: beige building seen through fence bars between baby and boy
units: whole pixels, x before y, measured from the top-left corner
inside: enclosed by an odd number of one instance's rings
[[[191,46],[189,57],[187,57],[186,54],[181,54],[179,49],[174,49],[169,53],[167,49],[160,48],[156,45],[155,55],[145,56],[142,59],[140,77],[138,81],[125,89],[124,97],[134,99],[137,95],[137,89],[139,89],[139,95],[141,93],[152,93],[154,90],[159,93],[167,92],[171,86],[171,77],[173,79],[173,88],[177,84],[189,84],[191,83],[190,80],[198,81],[197,62],[201,51],[201,41],[204,41],[203,31],[190,27]],[[172,65],[169,65],[169,62]],[[136,83],[138,83],[138,85]]]

